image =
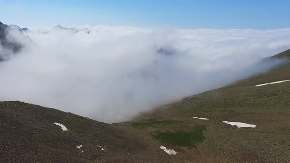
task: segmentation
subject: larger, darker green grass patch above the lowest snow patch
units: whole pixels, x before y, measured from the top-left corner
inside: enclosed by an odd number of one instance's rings
[[[202,142],[205,139],[203,136],[203,130],[206,130],[205,126],[196,126],[194,132],[162,132],[155,135],[154,138],[164,143],[170,143],[191,149],[196,147],[197,143]]]

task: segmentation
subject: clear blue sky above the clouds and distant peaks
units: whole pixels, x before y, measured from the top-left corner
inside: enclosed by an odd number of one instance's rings
[[[0,21],[21,27],[113,25],[290,27],[290,0],[0,0]]]

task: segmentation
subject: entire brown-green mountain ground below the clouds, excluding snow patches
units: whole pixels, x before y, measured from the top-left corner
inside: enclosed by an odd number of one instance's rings
[[[254,86],[284,80],[290,80],[289,61],[115,124],[0,102],[0,163],[290,163],[290,81]],[[168,155],[161,145],[177,154]]]

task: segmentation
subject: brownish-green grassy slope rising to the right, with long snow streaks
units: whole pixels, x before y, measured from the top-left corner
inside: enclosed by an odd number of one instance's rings
[[[289,53],[288,50],[277,56]],[[290,163],[290,81],[255,86],[284,80],[290,80],[289,62],[261,76],[142,113],[133,121],[174,120],[177,124],[159,127],[158,131],[143,129],[153,137],[163,130],[190,133],[190,128],[205,126],[203,140],[196,144],[212,159],[209,162]],[[237,128],[223,121],[254,124],[256,128]],[[167,138],[157,140],[176,144]]]

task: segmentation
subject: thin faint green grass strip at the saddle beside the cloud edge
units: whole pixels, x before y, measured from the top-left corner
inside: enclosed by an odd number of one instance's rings
[[[126,122],[130,124],[132,127],[138,129],[145,129],[150,126],[167,126],[176,123],[176,121],[138,121],[138,122]]]

